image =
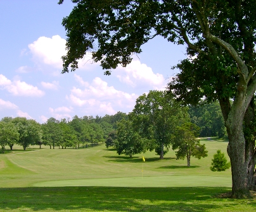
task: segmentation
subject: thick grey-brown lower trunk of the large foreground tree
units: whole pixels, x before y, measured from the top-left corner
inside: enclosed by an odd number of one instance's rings
[[[225,105],[222,105],[222,113]],[[228,114],[223,115],[226,119],[226,128],[229,138],[227,153],[231,161],[232,172],[232,197],[250,197],[250,189],[253,187],[253,173],[255,173],[255,141],[248,143],[244,134],[245,109],[243,101],[234,101]]]

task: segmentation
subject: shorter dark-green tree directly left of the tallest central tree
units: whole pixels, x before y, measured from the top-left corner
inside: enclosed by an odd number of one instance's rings
[[[124,154],[132,157],[132,155],[146,151],[147,140],[141,138],[139,133],[134,131],[131,121],[122,119],[122,121],[117,124],[115,148],[118,155]]]

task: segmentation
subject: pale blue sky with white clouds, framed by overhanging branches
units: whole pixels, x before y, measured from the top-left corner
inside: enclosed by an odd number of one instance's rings
[[[186,58],[186,47],[155,37],[110,76],[89,56],[76,71],[61,74],[67,38],[61,21],[74,6],[70,0],[0,0],[0,119],[44,123],[50,117],[129,113],[136,98],[163,90],[179,72],[171,67]]]

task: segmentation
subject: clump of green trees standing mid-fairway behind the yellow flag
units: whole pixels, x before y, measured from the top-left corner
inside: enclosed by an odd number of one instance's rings
[[[182,107],[166,91],[150,91],[136,100],[136,105],[117,124],[117,131],[106,139],[106,147],[114,146],[117,153],[132,156],[147,150],[163,155],[170,146],[177,159],[207,156],[205,145],[200,144],[200,127],[190,122],[188,107]]]

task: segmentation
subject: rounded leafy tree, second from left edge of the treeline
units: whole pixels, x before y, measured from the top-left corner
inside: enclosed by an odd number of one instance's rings
[[[25,117],[16,117],[12,122],[20,134],[17,143],[23,147],[23,150],[26,150],[29,145],[41,141],[42,129],[41,125],[36,121]]]

